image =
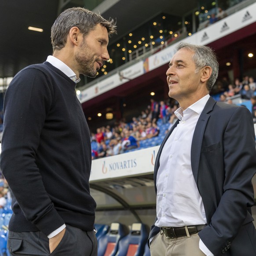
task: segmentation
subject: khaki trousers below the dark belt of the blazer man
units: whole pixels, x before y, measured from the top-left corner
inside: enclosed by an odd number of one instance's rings
[[[198,234],[189,237],[166,238],[159,232],[150,243],[151,256],[205,256],[199,249]]]

